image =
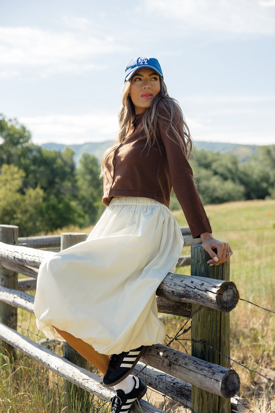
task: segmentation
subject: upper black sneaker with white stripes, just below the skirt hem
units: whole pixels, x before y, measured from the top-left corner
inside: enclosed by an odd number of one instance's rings
[[[104,385],[112,387],[125,379],[136,366],[147,347],[141,346],[138,349],[122,351],[120,354],[112,354],[108,369],[103,377]]]

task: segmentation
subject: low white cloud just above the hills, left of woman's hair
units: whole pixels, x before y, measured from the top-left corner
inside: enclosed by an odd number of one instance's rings
[[[19,122],[31,131],[33,142],[38,144],[102,142],[113,140],[118,130],[117,115],[106,113],[21,117]]]

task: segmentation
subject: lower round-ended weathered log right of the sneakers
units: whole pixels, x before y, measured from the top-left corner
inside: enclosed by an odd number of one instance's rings
[[[234,370],[200,360],[161,344],[148,347],[141,361],[226,398],[233,397],[240,389],[240,379]]]

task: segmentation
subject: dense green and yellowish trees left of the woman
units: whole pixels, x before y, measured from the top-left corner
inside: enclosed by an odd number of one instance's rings
[[[76,168],[72,149],[35,145],[24,125],[2,115],[0,138],[1,223],[19,225],[20,236],[96,223],[105,208],[96,157],[82,154]]]

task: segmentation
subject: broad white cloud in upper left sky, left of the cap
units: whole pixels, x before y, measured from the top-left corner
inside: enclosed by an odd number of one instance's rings
[[[49,31],[31,27],[0,27],[0,77],[34,69],[40,76],[100,70],[100,57],[129,50],[113,38],[85,31]]]

